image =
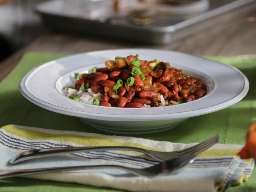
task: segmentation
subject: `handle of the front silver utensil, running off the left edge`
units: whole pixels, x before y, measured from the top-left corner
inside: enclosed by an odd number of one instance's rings
[[[20,169],[20,170],[10,170],[10,171],[1,171],[0,179],[8,177],[18,177],[32,174],[40,173],[54,173],[61,171],[74,171],[74,170],[89,170],[89,169],[121,169],[128,171],[134,175],[141,175],[136,172],[136,169],[131,167],[123,167],[118,165],[94,165],[94,166],[71,166],[71,167],[52,167],[52,168],[39,168],[39,169]]]

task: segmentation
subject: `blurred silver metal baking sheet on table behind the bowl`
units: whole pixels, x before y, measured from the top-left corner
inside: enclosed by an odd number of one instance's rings
[[[205,11],[195,13],[190,9],[192,11],[188,14],[157,15],[153,23],[137,25],[131,22],[127,13],[115,13],[102,6],[104,2],[91,0],[91,4],[88,4],[88,1],[51,0],[38,4],[36,11],[43,22],[52,28],[166,44],[209,26],[218,27],[221,22],[238,18],[241,14],[248,14],[256,9],[256,0],[209,0]]]

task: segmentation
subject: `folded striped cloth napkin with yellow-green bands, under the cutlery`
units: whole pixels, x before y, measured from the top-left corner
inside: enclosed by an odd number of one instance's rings
[[[73,146],[130,146],[158,151],[176,151],[195,144],[177,144],[124,136],[106,136],[94,133],[58,131],[7,125],[0,129],[0,171],[41,167],[60,167],[96,164],[116,164],[135,168],[157,164],[138,152],[103,151],[40,158],[15,166],[9,161],[22,150]],[[47,173],[26,176],[34,179],[75,182],[84,185],[109,187],[127,191],[223,191],[230,185],[246,181],[254,161],[242,161],[235,154],[242,145],[216,144],[200,154],[178,174],[154,178],[133,176],[122,170],[102,169]]]

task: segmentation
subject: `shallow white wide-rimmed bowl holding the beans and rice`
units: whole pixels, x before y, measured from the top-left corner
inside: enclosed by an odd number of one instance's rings
[[[84,104],[65,97],[62,87],[69,76],[103,67],[116,56],[139,54],[140,59],[169,62],[202,80],[207,94],[195,101],[167,107],[117,108]],[[184,53],[152,49],[93,51],[53,60],[35,67],[20,83],[21,93],[32,103],[56,113],[79,117],[96,129],[119,134],[155,133],[178,126],[189,117],[221,110],[240,101],[249,81],[235,67]]]

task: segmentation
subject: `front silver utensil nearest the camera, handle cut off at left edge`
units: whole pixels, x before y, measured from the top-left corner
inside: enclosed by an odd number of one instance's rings
[[[73,171],[73,170],[88,170],[88,169],[121,169],[128,171],[137,176],[154,177],[162,174],[177,173],[182,167],[192,163],[196,155],[187,154],[180,157],[173,158],[168,161],[161,162],[151,167],[136,169],[131,167],[124,167],[118,165],[94,165],[94,166],[72,166],[72,167],[51,167],[51,168],[40,168],[40,169],[20,169],[1,171],[0,179],[7,177],[25,176],[31,174],[40,173],[53,173],[61,171]]]

